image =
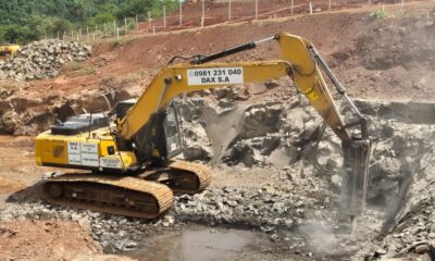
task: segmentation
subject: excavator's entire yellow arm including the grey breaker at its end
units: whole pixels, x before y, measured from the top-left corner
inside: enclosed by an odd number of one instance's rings
[[[217,62],[213,60],[253,49],[260,44],[277,41],[282,60],[258,62]],[[176,58],[175,58],[176,59]],[[173,60],[175,60],[173,59]],[[173,62],[171,61],[171,63]],[[350,104],[357,120],[345,124],[331,95],[321,70],[326,74],[344,99]],[[356,215],[364,209],[370,140],[366,121],[349,99],[346,89],[335,77],[311,42],[290,34],[278,34],[259,41],[248,42],[211,55],[195,55],[190,63],[164,67],[150,83],[136,104],[117,125],[117,140],[130,142],[146,161],[156,148],[159,129],[156,115],[177,96],[196,90],[220,88],[236,84],[263,82],[289,76],[325,123],[343,140],[346,209]],[[158,98],[158,99],[156,99]],[[360,135],[351,137],[348,128],[359,126]]]

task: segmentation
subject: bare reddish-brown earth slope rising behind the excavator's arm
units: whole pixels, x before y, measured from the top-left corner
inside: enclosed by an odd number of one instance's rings
[[[156,36],[133,36],[121,41],[107,40],[98,45],[94,58],[83,64],[83,67],[94,69],[95,74],[65,73],[54,79],[29,83],[28,90],[32,92],[33,89],[50,87],[67,96],[80,90],[97,90],[108,82],[121,80],[129,83],[134,90],[141,91],[157,70],[173,55],[213,53],[284,30],[310,39],[351,94],[363,98],[427,100],[435,95],[432,88],[425,87],[425,83],[434,77],[431,62],[433,9],[432,2],[410,4],[407,14],[395,7],[387,10],[389,17],[381,20],[370,15],[376,8],[359,9],[269,20],[264,23],[238,23]],[[428,18],[425,17],[426,13],[430,14]],[[413,17],[415,15],[427,20],[427,24]],[[398,34],[397,30],[406,34]],[[419,42],[414,42],[415,37],[420,39]],[[227,58],[226,61],[278,57],[277,46],[271,44]],[[385,92],[386,89],[389,91]]]

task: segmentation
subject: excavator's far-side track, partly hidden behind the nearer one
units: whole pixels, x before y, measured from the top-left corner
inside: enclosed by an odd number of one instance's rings
[[[208,166],[182,160],[172,161],[164,167],[152,167],[141,176],[169,186],[175,194],[197,194],[211,182]]]

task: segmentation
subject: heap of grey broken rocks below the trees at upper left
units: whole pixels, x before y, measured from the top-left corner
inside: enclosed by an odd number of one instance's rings
[[[85,61],[91,53],[91,47],[77,42],[35,41],[23,47],[12,60],[0,62],[0,79],[30,80],[54,77],[63,64],[70,61]]]

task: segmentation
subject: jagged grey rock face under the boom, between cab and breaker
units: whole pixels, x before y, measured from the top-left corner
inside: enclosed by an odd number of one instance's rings
[[[240,105],[195,97],[178,100],[177,107],[188,160],[285,166],[310,154],[321,125],[320,116],[299,98]]]

